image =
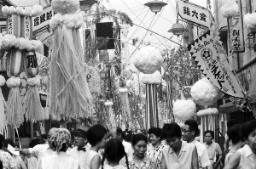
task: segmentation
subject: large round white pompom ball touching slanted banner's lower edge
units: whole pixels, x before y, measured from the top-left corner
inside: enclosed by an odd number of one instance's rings
[[[212,82],[210,82],[207,77],[195,82],[193,87],[191,87],[191,96],[196,104],[202,106],[209,106],[215,104],[218,99],[223,97],[217,87],[215,87]]]

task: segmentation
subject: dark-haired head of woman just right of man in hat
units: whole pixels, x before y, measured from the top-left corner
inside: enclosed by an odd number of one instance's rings
[[[90,127],[87,132],[87,139],[92,147],[98,146],[99,149],[103,149],[107,142],[107,129],[99,124]]]

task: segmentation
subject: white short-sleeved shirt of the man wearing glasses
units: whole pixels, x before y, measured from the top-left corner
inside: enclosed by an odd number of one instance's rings
[[[204,146],[204,144],[201,144],[196,140],[191,142],[191,144],[195,144],[198,155],[199,168],[211,166],[211,161],[207,154],[207,148]]]

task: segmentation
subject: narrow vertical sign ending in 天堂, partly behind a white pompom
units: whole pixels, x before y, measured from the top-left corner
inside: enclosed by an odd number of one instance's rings
[[[233,53],[244,53],[245,48],[244,48],[244,36],[243,36],[243,20],[242,20],[242,8],[241,8],[241,0],[236,1],[239,7],[239,12],[232,17],[231,19],[233,22]],[[229,22],[228,22],[229,23]],[[229,33],[230,35],[230,25],[229,26]],[[230,36],[229,36],[230,39]],[[230,41],[228,41],[230,42]]]

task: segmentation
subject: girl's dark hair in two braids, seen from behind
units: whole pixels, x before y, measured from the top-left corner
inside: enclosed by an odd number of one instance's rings
[[[125,156],[126,166],[128,164],[128,157],[125,153],[125,147],[119,139],[110,139],[105,145],[105,150],[102,158],[102,169],[104,166],[105,159],[108,162],[119,162]],[[129,168],[128,168],[129,169]]]

